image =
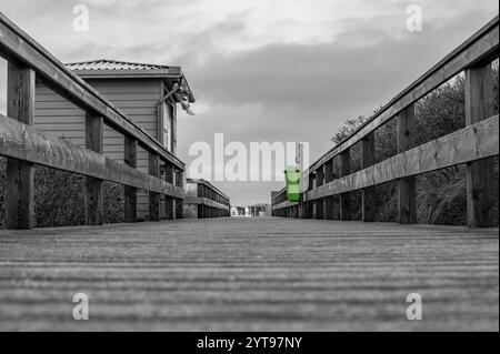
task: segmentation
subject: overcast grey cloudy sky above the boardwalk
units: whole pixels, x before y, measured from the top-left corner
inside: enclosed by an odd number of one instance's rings
[[[90,31],[72,29],[87,4]],[[421,6],[422,31],[406,28]],[[497,0],[0,0],[0,11],[63,62],[181,65],[197,102],[179,114],[179,155],[194,141],[331,146],[347,118],[370,115],[498,13]],[[0,109],[4,111],[4,64]],[[233,204],[269,202],[280,182],[218,182]]]

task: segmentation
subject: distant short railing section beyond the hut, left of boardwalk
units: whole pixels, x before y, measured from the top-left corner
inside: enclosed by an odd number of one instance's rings
[[[229,196],[206,180],[186,180],[183,214],[187,219],[230,216]]]

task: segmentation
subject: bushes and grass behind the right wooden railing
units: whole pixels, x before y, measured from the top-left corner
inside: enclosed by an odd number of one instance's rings
[[[498,61],[493,63],[494,71],[494,111],[498,113]],[[437,90],[432,91],[416,104],[417,144],[420,145],[439,136],[449,134],[464,127],[464,75],[459,74]],[[339,143],[349,136],[366,121],[364,117],[348,119],[332,141]],[[391,121],[376,131],[376,161],[394,155],[396,122]],[[494,164],[496,191],[498,195],[498,158]],[[351,164],[353,171],[360,170],[361,150],[358,144],[351,149]],[[376,188],[378,202],[378,221],[397,221],[398,196],[396,183],[387,183]],[[361,218],[360,196],[353,193],[351,203],[357,213],[356,220]],[[466,224],[466,166],[452,166],[426,173],[417,178],[417,218],[419,223],[429,224]],[[496,203],[498,224],[498,199]]]

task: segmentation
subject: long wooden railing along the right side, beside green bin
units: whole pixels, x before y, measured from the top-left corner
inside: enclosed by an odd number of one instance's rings
[[[350,220],[350,192],[360,190],[362,220],[374,221],[373,186],[397,181],[399,222],[416,223],[416,175],[467,164],[468,224],[491,225],[494,220],[493,170],[487,158],[499,154],[499,119],[493,115],[491,67],[499,57],[498,51],[497,17],[312,163],[302,175],[302,180],[309,181],[309,190],[300,202],[288,202],[284,189],[273,192],[273,215],[333,219],[333,196],[340,195],[340,220]],[[414,103],[462,71],[466,74],[466,128],[416,146]],[[397,120],[398,154],[374,163],[374,132],[393,119]],[[362,170],[351,173],[350,148],[356,143],[361,143]],[[340,160],[338,178],[333,174],[334,158]]]

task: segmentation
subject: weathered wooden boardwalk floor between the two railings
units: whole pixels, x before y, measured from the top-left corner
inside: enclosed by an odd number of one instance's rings
[[[499,330],[498,229],[209,219],[0,231],[0,330]],[[90,320],[72,318],[72,296]],[[423,318],[406,318],[420,293]]]

